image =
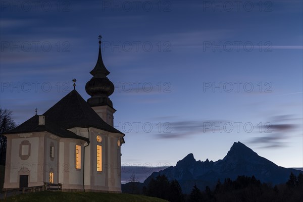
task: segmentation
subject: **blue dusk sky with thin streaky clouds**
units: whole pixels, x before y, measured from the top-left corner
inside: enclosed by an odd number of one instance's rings
[[[2,1],[0,106],[21,124],[73,89],[102,35],[122,166],[223,159],[242,142],[303,167],[302,1]]]

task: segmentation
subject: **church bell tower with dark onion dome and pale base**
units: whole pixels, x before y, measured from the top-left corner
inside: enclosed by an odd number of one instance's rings
[[[91,97],[87,99],[87,104],[109,125],[114,126],[113,103],[109,96],[113,94],[114,84],[108,79],[110,72],[106,69],[101,53],[101,38],[99,35],[98,59],[90,74],[93,76],[85,85],[87,94]]]

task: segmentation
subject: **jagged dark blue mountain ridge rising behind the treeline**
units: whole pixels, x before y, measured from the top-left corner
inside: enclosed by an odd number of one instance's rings
[[[193,154],[189,154],[178,161],[176,166],[151,174],[144,181],[144,185],[146,186],[151,178],[164,174],[169,180],[178,180],[184,193],[190,193],[194,184],[204,190],[207,185],[214,186],[218,179],[221,182],[225,178],[234,180],[239,175],[254,175],[261,182],[266,183],[285,183],[291,172],[298,175],[301,171],[277,166],[273,162],[260,157],[243,143],[234,142],[222,160],[216,162],[208,159],[205,162],[196,161]]]

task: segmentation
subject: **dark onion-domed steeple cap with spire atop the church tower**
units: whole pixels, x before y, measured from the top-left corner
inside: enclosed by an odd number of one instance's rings
[[[87,94],[91,97],[87,99],[87,103],[91,107],[96,106],[109,106],[113,109],[113,103],[110,100],[109,96],[113,94],[115,87],[114,84],[108,79],[107,75],[110,72],[106,69],[101,54],[101,38],[99,35],[99,53],[98,60],[93,68],[90,71],[90,74],[93,76],[90,81],[88,81],[85,85],[85,90]]]

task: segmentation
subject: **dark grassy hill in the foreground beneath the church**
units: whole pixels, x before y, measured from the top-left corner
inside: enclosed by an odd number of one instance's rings
[[[41,191],[35,193],[19,194],[1,201],[102,201],[102,202],[167,202],[155,197],[125,193],[98,193],[98,192],[59,192]]]

